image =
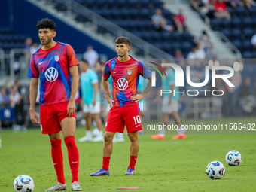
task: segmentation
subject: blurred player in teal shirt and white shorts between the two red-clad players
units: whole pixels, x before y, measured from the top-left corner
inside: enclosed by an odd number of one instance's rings
[[[102,120],[99,117],[100,113],[100,96],[99,96],[99,80],[98,76],[92,69],[89,69],[88,62],[84,59],[81,60],[81,108],[83,108],[84,119],[86,120],[85,136],[79,138],[79,142],[102,142]],[[91,133],[92,117],[96,121],[99,132],[93,138]]]

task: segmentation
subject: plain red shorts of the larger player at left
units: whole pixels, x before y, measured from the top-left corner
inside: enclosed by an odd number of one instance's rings
[[[50,134],[61,131],[60,122],[69,117],[67,107],[69,102],[60,102],[53,105],[40,106],[41,133]],[[72,115],[75,117],[75,112]]]

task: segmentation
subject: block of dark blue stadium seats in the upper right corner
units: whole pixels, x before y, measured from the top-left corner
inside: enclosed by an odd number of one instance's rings
[[[215,2],[190,0],[193,5],[197,5],[201,14],[206,14],[210,18],[212,29],[222,32],[230,41],[241,51],[243,58],[251,59],[256,56],[256,49],[251,44],[251,38],[255,34],[256,27],[256,4],[254,1],[239,1],[233,4],[233,1],[224,1],[227,11],[231,16],[228,20],[215,17]]]

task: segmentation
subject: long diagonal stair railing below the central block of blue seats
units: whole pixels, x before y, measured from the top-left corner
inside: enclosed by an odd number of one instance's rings
[[[48,0],[44,0],[45,2],[49,2]],[[84,7],[83,5],[75,2],[74,0],[54,0],[54,2],[58,2],[61,5],[65,5],[67,7],[67,14],[71,15],[72,12],[81,14],[82,16],[86,17],[94,26],[100,26],[106,31],[110,32],[116,36],[126,36],[129,37],[130,40],[133,42],[133,46],[144,51],[145,57],[153,56],[154,58],[158,59],[172,59],[173,57],[169,54],[160,50],[159,48],[155,47],[152,44],[142,40],[141,38],[133,35],[133,33],[126,31],[125,29],[117,26],[116,24],[112,23],[109,20],[106,20],[104,17],[101,17],[99,14],[91,11],[90,9]]]

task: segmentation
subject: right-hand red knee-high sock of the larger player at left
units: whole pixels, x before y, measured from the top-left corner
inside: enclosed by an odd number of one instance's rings
[[[69,154],[69,166],[72,172],[72,183],[78,181],[79,152],[75,143],[75,137],[69,136],[65,139]]]

